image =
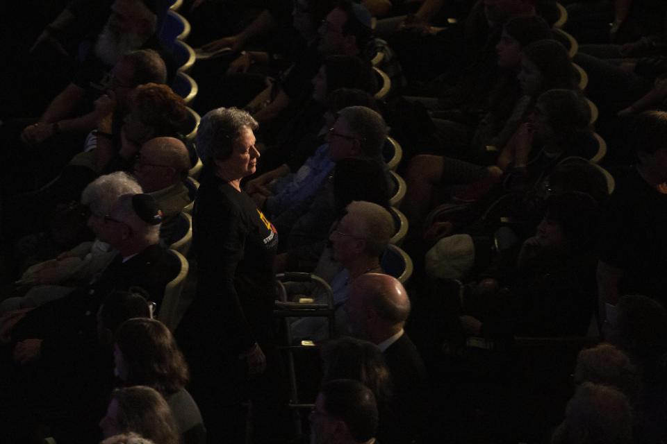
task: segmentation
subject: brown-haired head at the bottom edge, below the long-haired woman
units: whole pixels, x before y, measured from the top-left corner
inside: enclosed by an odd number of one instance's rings
[[[104,438],[135,432],[154,443],[179,444],[179,429],[169,405],[147,386],[117,388],[99,422]]]

